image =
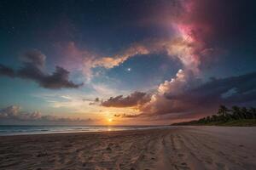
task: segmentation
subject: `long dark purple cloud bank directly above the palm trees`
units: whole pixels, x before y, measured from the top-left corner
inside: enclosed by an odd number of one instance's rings
[[[218,105],[247,105],[256,102],[256,72],[238,77],[212,79],[185,90],[182,94],[165,94],[165,105],[154,114],[214,113]]]

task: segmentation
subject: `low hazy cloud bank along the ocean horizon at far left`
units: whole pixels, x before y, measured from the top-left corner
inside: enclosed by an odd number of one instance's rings
[[[68,117],[58,117],[42,115],[39,111],[20,111],[20,106],[10,105],[0,110],[0,122],[93,122],[91,119],[73,119]]]

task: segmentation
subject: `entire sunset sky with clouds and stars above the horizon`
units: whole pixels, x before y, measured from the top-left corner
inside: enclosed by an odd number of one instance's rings
[[[0,124],[156,125],[255,106],[255,5],[2,0]]]

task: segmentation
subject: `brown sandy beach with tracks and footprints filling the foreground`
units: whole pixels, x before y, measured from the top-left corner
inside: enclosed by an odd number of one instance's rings
[[[255,127],[0,137],[0,169],[256,169]]]

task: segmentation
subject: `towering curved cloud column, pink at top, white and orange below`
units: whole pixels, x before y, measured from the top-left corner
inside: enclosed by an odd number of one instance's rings
[[[176,77],[160,83],[156,92],[151,94],[143,105],[137,105],[136,102],[133,102],[132,106],[137,106],[140,117],[193,112],[189,110],[193,104],[184,103],[183,99],[169,99],[166,96],[180,96],[189,89],[200,86],[201,80],[198,77],[201,73],[201,65],[207,55],[211,55],[215,50],[205,42],[205,37],[210,32],[207,24],[189,20],[189,17],[194,15],[194,10],[191,10],[194,5],[190,1],[181,3],[179,8],[183,8],[183,13],[177,14],[171,20],[172,28],[175,31],[171,38],[158,38],[135,44],[144,49],[144,54],[166,54],[172,59],[177,59],[183,65],[177,71]],[[119,56],[126,56],[125,59],[129,59],[137,55],[124,51]],[[107,102],[109,101],[109,106],[122,107],[125,105],[119,105],[119,103],[123,104],[123,100],[125,100],[123,96],[117,96],[108,99]]]

